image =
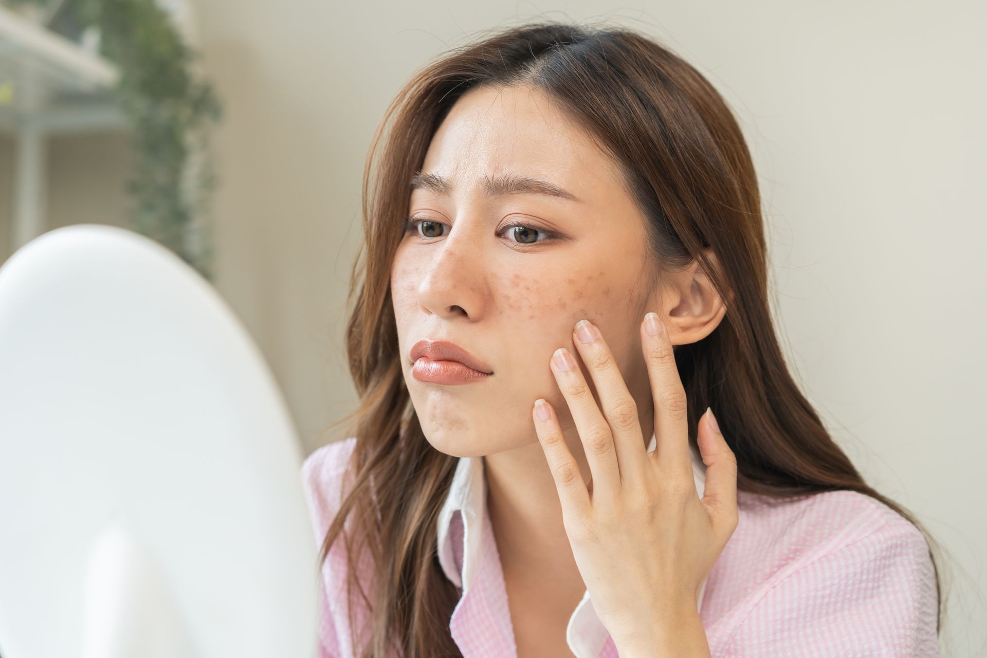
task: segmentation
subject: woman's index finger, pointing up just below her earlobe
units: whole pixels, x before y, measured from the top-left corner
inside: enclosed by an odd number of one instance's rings
[[[668,331],[656,313],[645,315],[645,322],[641,324],[641,345],[654,400],[652,459],[657,459],[669,473],[684,477],[692,473],[685,388],[675,366],[675,352]]]

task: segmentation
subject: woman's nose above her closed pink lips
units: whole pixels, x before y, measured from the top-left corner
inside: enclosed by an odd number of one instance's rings
[[[486,259],[479,236],[470,237],[466,222],[456,222],[448,237],[423,254],[431,256],[418,284],[418,305],[441,318],[476,320],[487,306]]]

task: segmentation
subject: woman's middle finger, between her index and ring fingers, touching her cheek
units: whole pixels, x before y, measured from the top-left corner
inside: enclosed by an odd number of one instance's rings
[[[638,404],[628,391],[610,347],[600,329],[588,320],[577,322],[572,334],[573,343],[596,387],[603,417],[610,425],[621,481],[644,475],[647,458]]]

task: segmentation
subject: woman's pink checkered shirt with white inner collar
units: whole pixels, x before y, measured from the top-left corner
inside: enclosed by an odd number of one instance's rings
[[[355,442],[350,437],[323,446],[302,467],[317,546],[339,507]],[[652,435],[647,449],[654,445]],[[691,450],[702,496],[706,467]],[[939,657],[935,573],[925,537],[911,523],[846,490],[790,500],[739,491],[737,506],[737,528],[699,599],[714,658]],[[461,592],[449,630],[464,658],[516,658],[483,458],[459,459],[439,514],[436,548],[443,572]],[[319,658],[354,658],[345,564],[338,542],[320,583]],[[360,582],[372,589],[367,555],[359,564]],[[363,606],[353,615],[357,627],[369,619]],[[618,656],[588,591],[569,618],[566,639],[576,658]]]

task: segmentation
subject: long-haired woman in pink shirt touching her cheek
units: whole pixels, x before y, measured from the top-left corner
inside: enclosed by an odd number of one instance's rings
[[[788,372],[750,155],[692,66],[553,23],[456,48],[364,199],[360,402],[303,469],[322,655],[939,655],[926,533]]]

